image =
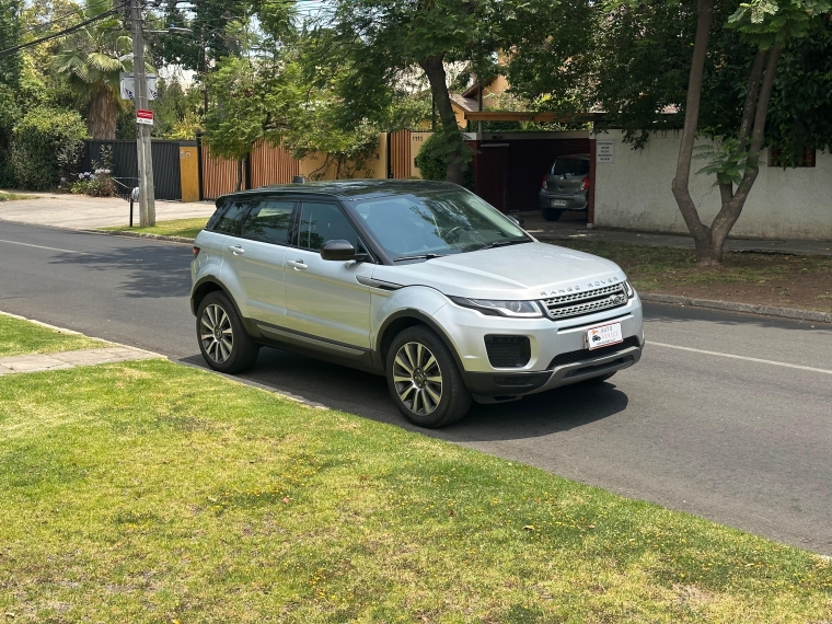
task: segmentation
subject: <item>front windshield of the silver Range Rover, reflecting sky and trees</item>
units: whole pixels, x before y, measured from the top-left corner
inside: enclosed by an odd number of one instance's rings
[[[353,206],[394,261],[531,241],[496,208],[463,189],[393,195]]]

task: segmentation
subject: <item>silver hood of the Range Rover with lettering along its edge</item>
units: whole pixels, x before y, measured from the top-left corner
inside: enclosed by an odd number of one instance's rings
[[[449,296],[506,300],[540,299],[626,279],[613,262],[538,242],[377,266],[373,277],[402,286],[428,286]]]

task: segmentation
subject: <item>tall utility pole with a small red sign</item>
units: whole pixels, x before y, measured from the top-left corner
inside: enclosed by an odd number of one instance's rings
[[[148,108],[148,79],[145,76],[145,34],[141,0],[130,0],[130,32],[132,34],[132,78],[136,111]],[[155,226],[155,190],[153,188],[153,157],[150,151],[150,128],[136,124],[136,147],[139,161],[139,227]]]

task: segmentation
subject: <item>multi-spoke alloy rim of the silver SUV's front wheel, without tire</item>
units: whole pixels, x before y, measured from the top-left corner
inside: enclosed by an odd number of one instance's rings
[[[419,416],[432,413],[442,400],[442,371],[425,345],[405,343],[393,361],[393,383],[402,403]]]

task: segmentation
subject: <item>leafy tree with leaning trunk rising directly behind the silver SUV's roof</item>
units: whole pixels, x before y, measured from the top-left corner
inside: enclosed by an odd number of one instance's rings
[[[333,49],[349,58],[354,73],[340,92],[346,120],[373,119],[420,69],[439,114],[446,178],[462,184],[470,151],[451,107],[446,66],[487,66],[496,49],[495,18],[490,0],[339,0]]]

